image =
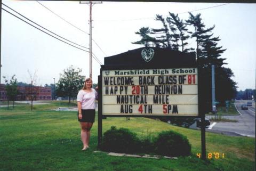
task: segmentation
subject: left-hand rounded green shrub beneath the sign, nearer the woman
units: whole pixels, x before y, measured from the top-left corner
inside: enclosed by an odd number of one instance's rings
[[[101,149],[103,151],[135,153],[140,151],[140,140],[137,134],[129,129],[112,126],[102,137]]]

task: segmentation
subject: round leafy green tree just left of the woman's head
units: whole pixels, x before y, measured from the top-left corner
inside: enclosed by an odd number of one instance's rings
[[[68,96],[70,103],[71,97],[75,97],[84,85],[85,76],[80,75],[81,72],[82,69],[73,68],[73,66],[63,70],[57,83],[56,94],[62,97]]]

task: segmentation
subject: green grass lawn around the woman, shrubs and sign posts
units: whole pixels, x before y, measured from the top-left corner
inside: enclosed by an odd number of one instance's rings
[[[94,153],[97,149],[97,119],[91,132],[90,149],[82,151],[80,127],[76,111],[49,111],[63,104],[0,109],[0,170],[255,170],[255,139],[231,137],[206,132],[206,152],[224,153],[220,159],[203,161],[196,157],[201,152],[201,132],[172,126],[148,118],[107,118],[103,132],[111,126],[129,128],[139,137],[156,136],[164,130],[177,131],[188,137],[192,146],[190,157],[178,160],[114,157]],[[75,104],[74,104],[75,105]],[[96,117],[97,118],[97,117]]]

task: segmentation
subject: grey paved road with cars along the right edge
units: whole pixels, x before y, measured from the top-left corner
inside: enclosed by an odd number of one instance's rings
[[[249,100],[248,100],[249,101]],[[246,100],[237,100],[235,106],[240,115],[223,116],[222,118],[237,120],[237,123],[218,122],[210,127],[212,132],[231,132],[237,135],[255,137],[255,103],[248,107],[248,110],[241,110],[241,105],[246,103]],[[213,123],[211,123],[213,124]]]

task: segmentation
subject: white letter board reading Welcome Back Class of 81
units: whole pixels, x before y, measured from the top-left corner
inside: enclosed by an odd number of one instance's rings
[[[197,68],[102,70],[102,115],[198,116]]]

